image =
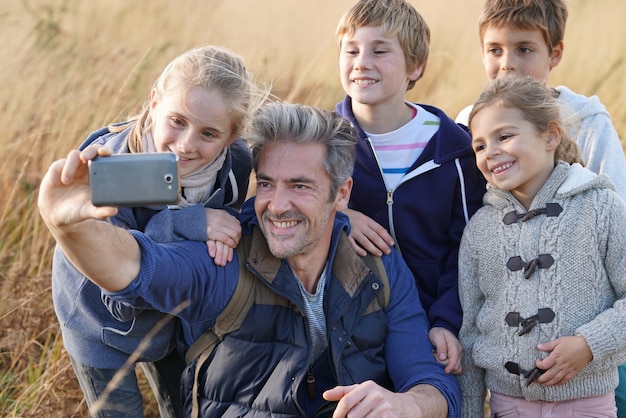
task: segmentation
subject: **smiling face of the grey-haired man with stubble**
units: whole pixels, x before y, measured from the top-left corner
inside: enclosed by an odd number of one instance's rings
[[[277,258],[328,255],[337,210],[347,206],[351,179],[330,196],[320,143],[277,142],[263,149],[256,170],[255,211]]]

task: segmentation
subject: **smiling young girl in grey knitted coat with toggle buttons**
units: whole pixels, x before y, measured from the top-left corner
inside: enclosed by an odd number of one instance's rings
[[[615,417],[626,205],[581,165],[546,86],[493,81],[469,126],[488,186],[459,254],[463,416],[489,389],[492,416]]]

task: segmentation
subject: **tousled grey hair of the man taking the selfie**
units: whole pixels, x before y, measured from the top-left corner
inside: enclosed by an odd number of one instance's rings
[[[254,116],[246,139],[252,149],[255,170],[263,148],[274,142],[324,145],[324,170],[331,181],[331,200],[354,170],[354,128],[334,112],[300,104],[268,103]]]

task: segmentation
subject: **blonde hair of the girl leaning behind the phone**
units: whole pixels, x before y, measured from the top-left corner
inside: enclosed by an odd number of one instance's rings
[[[154,82],[157,98],[191,87],[217,90],[230,108],[233,133],[239,135],[251,115],[268,97],[268,91],[258,87],[246,69],[243,59],[232,51],[219,46],[202,46],[191,49],[171,61]],[[134,123],[128,139],[131,152],[142,151],[142,136],[149,126],[144,126],[150,113],[150,101],[144,104],[138,115],[125,123],[109,126],[120,132]],[[200,115],[201,116],[201,115]]]

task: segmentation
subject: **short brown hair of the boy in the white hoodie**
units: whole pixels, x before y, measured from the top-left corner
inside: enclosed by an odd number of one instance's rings
[[[482,42],[488,27],[539,30],[550,52],[563,40],[567,6],[564,0],[486,0],[478,20]]]

